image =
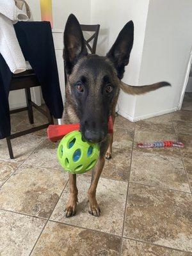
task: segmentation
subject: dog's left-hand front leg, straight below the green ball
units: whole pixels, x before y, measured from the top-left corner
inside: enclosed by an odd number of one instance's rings
[[[76,206],[78,202],[77,194],[78,189],[76,185],[76,174],[68,173],[69,177],[69,186],[70,186],[70,194],[68,198],[68,203],[65,208],[65,216],[71,217],[76,214]]]

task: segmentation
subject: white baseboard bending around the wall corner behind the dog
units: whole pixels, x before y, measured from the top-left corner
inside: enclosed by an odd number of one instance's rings
[[[156,113],[150,113],[150,114],[142,115],[142,116],[130,116],[127,113],[124,113],[122,111],[118,111],[118,114],[121,115],[121,116],[124,116],[126,119],[128,119],[131,122],[137,122],[137,121],[144,120],[144,119],[147,119],[147,118],[172,113],[172,112],[177,111],[177,110],[178,110],[178,108],[176,107],[176,108],[166,109],[166,110],[163,110],[163,111],[159,111],[159,112],[156,112]]]

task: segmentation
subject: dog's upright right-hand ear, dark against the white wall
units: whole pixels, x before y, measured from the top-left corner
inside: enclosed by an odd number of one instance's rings
[[[132,49],[134,37],[134,24],[131,21],[125,24],[124,28],[118,34],[115,43],[108,52],[107,57],[115,65],[119,79],[124,76],[125,66],[129,63],[129,56]]]

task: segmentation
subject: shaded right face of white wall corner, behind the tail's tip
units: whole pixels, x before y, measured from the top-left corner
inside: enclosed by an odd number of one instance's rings
[[[150,1],[139,84],[168,81],[172,87],[137,97],[134,118],[177,109],[192,46],[191,13],[191,0]]]

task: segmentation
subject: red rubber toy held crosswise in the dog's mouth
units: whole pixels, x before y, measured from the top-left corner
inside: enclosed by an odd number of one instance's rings
[[[61,140],[66,134],[72,131],[79,131],[79,124],[49,125],[47,136],[52,142]],[[108,133],[113,133],[113,122],[111,116],[108,120]]]

